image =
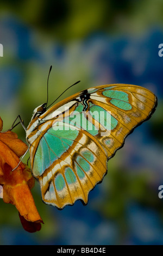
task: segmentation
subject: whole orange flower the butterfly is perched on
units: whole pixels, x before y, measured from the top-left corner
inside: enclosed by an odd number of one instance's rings
[[[0,130],[2,125],[0,118]],[[26,227],[24,229],[34,232],[40,230],[43,221],[30,192],[35,180],[28,166],[19,159],[27,149],[28,146],[17,138],[16,133],[0,132],[0,185],[3,186],[3,200],[16,206],[22,225]]]

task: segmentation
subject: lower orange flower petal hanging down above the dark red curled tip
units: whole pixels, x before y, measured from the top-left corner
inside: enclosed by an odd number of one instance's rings
[[[3,200],[5,203],[14,204],[27,221],[43,223],[27,183],[29,180],[31,184],[34,182],[32,174],[29,176],[29,168],[23,171],[15,169],[12,172],[12,168],[5,164],[5,174],[0,177],[0,183],[3,184]]]

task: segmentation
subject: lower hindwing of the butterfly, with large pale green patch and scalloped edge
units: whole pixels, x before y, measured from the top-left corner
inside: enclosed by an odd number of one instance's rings
[[[77,128],[66,130],[67,126],[60,122],[58,127],[63,130],[52,127],[45,133],[33,165],[43,201],[58,208],[77,199],[87,203],[89,191],[106,172],[107,157],[101,144],[87,136],[87,132]]]

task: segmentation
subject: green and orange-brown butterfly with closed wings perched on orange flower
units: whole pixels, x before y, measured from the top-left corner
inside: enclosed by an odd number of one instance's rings
[[[27,127],[32,173],[42,200],[62,209],[88,194],[107,172],[108,160],[156,107],[156,96],[130,84],[83,90],[47,109],[34,109]]]

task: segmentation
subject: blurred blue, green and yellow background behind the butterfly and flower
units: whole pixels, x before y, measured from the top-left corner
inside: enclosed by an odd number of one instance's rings
[[[33,109],[109,83],[146,87],[158,108],[108,162],[108,174],[89,194],[59,211],[32,190],[44,221],[23,230],[15,206],[0,199],[0,245],[163,245],[163,2],[160,0],[0,0],[0,107],[4,130],[18,114],[27,126]],[[21,125],[14,131],[24,142]],[[29,155],[27,156],[27,158]]]

